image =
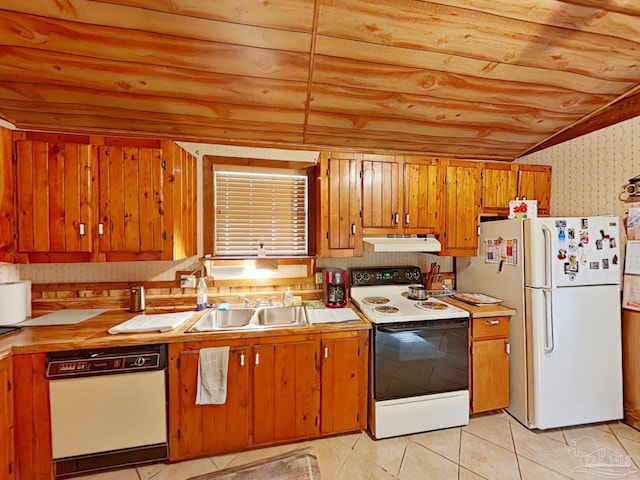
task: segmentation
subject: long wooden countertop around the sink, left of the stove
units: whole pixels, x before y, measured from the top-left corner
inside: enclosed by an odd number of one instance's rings
[[[9,355],[87,348],[108,348],[184,341],[255,338],[266,335],[300,335],[320,332],[339,332],[341,330],[370,329],[371,324],[369,321],[360,314],[355,306],[350,306],[360,316],[360,322],[327,323],[269,330],[185,333],[191,325],[206,313],[203,311],[194,312],[193,318],[189,319],[181,327],[169,332],[121,333],[112,335],[107,333],[108,329],[138,315],[138,313],[131,313],[128,310],[114,309],[75,325],[24,327],[24,329],[18,333],[0,337],[0,359]],[[147,311],[146,313],[169,312],[155,310]]]

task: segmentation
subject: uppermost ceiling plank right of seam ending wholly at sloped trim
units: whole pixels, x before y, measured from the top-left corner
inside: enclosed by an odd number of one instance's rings
[[[336,57],[316,56],[315,83],[376,91],[425,95],[472,103],[540,107],[555,112],[586,114],[612,101],[613,95],[593,95],[568,89],[451,74],[439,70],[380,65]]]

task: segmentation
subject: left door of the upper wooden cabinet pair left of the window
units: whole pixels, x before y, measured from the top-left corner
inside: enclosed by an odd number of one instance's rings
[[[18,253],[25,262],[86,262],[93,251],[95,166],[88,144],[18,139]]]

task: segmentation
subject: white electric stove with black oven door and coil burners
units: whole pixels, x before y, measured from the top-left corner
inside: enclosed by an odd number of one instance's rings
[[[373,323],[369,428],[376,439],[469,423],[469,314],[412,299],[419,267],[351,269],[351,300]]]

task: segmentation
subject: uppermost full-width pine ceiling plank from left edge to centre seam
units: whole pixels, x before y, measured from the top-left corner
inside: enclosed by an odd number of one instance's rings
[[[123,39],[126,38],[126,41]],[[250,77],[306,81],[309,55],[3,12],[0,44],[86,58]]]

